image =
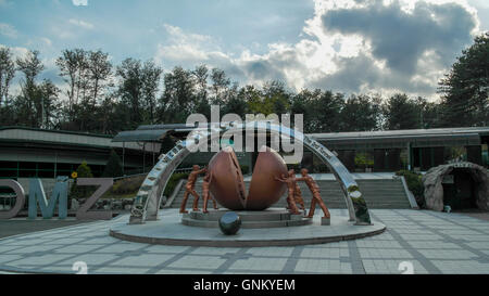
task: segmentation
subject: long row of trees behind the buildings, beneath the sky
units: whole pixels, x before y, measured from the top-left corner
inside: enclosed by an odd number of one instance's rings
[[[475,38],[439,81],[440,100],[396,93],[290,90],[283,81],[240,86],[223,69],[198,65],[164,72],[152,60],[111,62],[102,50],[66,49],[57,59],[63,89],[38,51],[13,57],[0,48],[0,125],[115,134],[139,125],[185,123],[192,113],[303,114],[305,132],[394,130],[489,125],[489,33]],[[20,75],[17,93],[12,81]]]

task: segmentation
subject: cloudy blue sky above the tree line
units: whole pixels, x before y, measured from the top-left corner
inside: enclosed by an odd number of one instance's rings
[[[60,86],[55,59],[84,48],[165,70],[206,64],[241,85],[436,100],[438,80],[487,30],[487,0],[0,0],[0,46],[39,50],[42,77]]]

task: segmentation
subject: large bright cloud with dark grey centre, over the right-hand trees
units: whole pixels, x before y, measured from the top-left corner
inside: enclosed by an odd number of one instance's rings
[[[337,23],[360,25],[344,30],[348,26],[325,24],[331,15]],[[298,42],[269,43],[264,54],[254,54],[251,47],[239,56],[223,52],[213,37],[163,28],[156,60],[166,65],[205,63],[243,83],[281,79],[298,91],[318,87],[434,98],[455,54],[477,34],[478,20],[466,1],[315,0],[314,16],[305,21]],[[409,42],[397,44],[402,38]]]

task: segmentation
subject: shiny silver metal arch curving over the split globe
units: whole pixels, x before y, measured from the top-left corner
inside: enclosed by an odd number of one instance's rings
[[[343,191],[350,221],[355,221],[355,224],[371,224],[368,208],[360,192],[359,185],[338,157],[319,142],[302,132],[283,125],[271,124],[269,121],[250,121],[228,128],[195,130],[187,140],[178,141],[175,147],[166,154],[160,155],[158,164],[142,182],[133,204],[129,223],[143,223],[147,220],[158,220],[158,210],[166,183],[175,168],[191,153],[189,150],[191,146],[204,145],[209,140],[212,141],[214,138],[221,137],[221,132],[224,131],[233,132],[248,129],[281,133],[294,139],[294,141],[302,142],[304,146],[309,147],[334,172],[336,180],[340,183],[341,190]]]

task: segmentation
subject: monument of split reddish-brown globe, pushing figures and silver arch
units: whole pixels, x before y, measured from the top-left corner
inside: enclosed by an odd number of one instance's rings
[[[147,220],[158,219],[158,210],[164,188],[174,169],[191,153],[192,149],[205,145],[209,141],[216,140],[215,138],[218,138],[222,132],[241,132],[248,129],[274,134],[287,134],[294,139],[294,141],[302,142],[304,146],[309,147],[334,172],[344,194],[350,221],[355,221],[355,224],[371,224],[371,217],[362,193],[353,177],[336,155],[314,139],[297,130],[281,125],[274,125],[269,121],[251,121],[224,128],[211,127],[211,129],[197,130],[186,141],[178,141],[174,149],[159,157],[158,164],[141,184],[133,205],[129,223],[143,223]],[[204,171],[200,171],[199,168],[196,172],[200,173]],[[290,175],[287,171],[284,160],[269,147],[262,149],[256,159],[255,171],[252,176],[248,194],[246,193],[242,173],[236,155],[230,147],[224,149],[211,159],[206,173],[209,175],[209,177],[205,177],[208,178],[209,190],[215,200],[226,208],[234,210],[265,209],[280,198],[288,190],[286,183],[289,182],[292,190],[291,192],[289,191],[288,204],[289,209],[294,213],[298,210],[294,202],[294,198],[297,198],[294,196],[294,181],[304,181],[313,193],[313,205],[311,208],[313,206],[315,207],[315,204],[318,203],[325,216],[328,217],[329,215],[326,205],[324,205],[319,196],[317,184],[308,176],[308,172],[304,170],[302,171],[302,178],[288,181],[287,179],[290,178]],[[188,189],[188,194],[193,194],[191,192],[192,189]],[[204,210],[206,210],[206,202],[211,197],[209,193],[204,192],[204,194],[206,195],[204,196]],[[198,194],[196,201],[198,201]],[[196,204],[193,204],[193,208],[196,208]]]

